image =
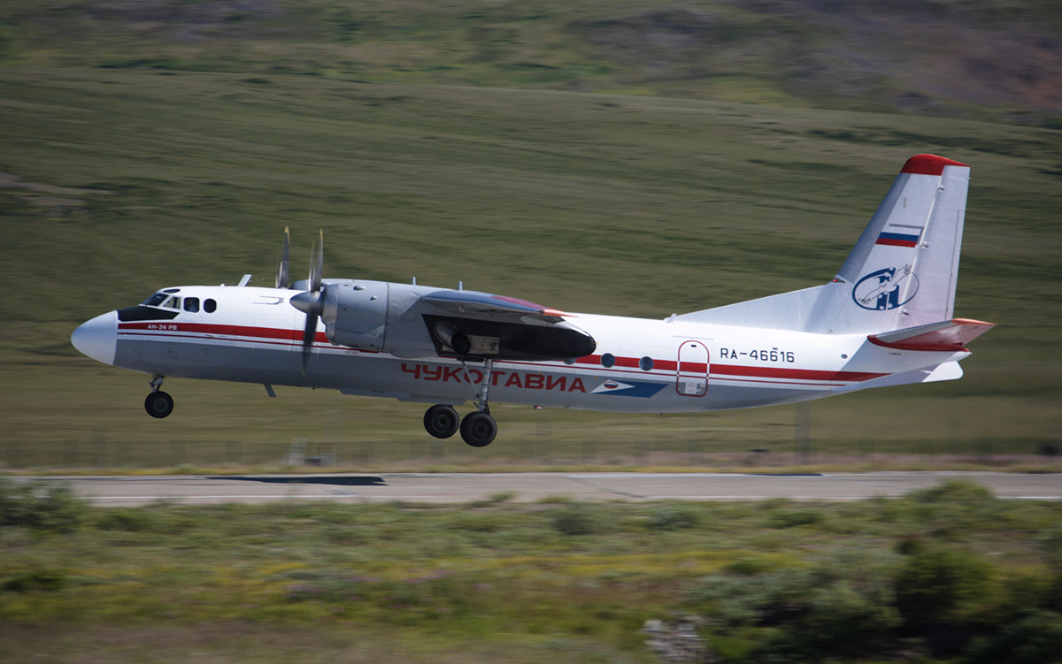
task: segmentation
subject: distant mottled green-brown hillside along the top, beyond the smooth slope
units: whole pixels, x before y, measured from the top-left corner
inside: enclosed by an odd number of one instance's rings
[[[10,0],[46,67],[548,88],[1058,126],[1050,0]]]

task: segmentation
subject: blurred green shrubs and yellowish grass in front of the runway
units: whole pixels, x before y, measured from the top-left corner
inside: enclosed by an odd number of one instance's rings
[[[723,662],[1062,652],[1058,504],[962,480],[850,504],[509,497],[104,509],[2,480],[0,647],[53,662],[650,662],[646,622],[686,616]]]

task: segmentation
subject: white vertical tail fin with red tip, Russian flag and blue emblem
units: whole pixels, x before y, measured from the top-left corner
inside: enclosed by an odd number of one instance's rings
[[[907,160],[834,280],[676,319],[820,333],[873,333],[949,320],[970,167]]]

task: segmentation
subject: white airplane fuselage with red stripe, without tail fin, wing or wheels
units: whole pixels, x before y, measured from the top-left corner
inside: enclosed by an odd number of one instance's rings
[[[293,291],[182,286],[179,293],[196,302],[193,311],[125,321],[113,311],[79,328],[74,345],[100,362],[159,377],[455,405],[475,401],[487,373],[483,362],[333,345],[323,331],[304,373],[306,315],[289,304]],[[869,343],[867,334],[592,314],[565,319],[593,336],[594,354],[573,362],[497,361],[491,401],[631,413],[743,408],[957,378],[957,361],[969,354],[885,348]]]

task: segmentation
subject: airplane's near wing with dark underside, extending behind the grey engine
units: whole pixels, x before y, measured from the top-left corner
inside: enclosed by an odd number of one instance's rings
[[[564,312],[477,291],[435,291],[421,298],[433,311],[424,321],[440,355],[461,359],[584,357],[597,343]]]

